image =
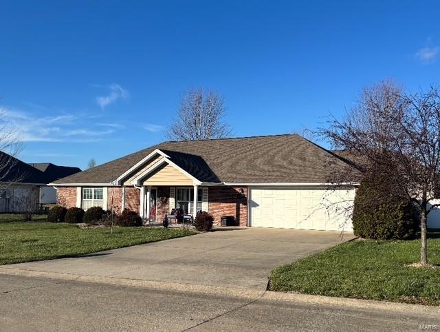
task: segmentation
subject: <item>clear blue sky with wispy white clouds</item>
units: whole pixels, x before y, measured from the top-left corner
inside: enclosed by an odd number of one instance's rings
[[[1,1],[0,107],[26,162],[85,168],[164,140],[192,87],[234,136],[315,128],[360,89],[440,83],[437,1]]]

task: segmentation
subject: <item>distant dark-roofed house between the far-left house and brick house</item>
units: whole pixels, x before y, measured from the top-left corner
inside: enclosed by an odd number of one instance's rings
[[[46,183],[53,182],[60,178],[81,172],[78,167],[58,166],[52,163],[30,163],[32,167],[39,169],[46,176]],[[56,189],[52,186],[40,187],[40,204],[55,204]]]

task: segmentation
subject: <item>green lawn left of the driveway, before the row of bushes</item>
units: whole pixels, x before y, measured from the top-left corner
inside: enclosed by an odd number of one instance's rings
[[[108,249],[179,238],[191,229],[114,227],[80,229],[50,222],[0,223],[0,264],[73,257]]]

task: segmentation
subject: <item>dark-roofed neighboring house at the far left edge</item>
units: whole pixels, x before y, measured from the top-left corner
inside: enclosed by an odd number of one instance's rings
[[[38,209],[40,187],[47,183],[45,174],[4,152],[0,152],[0,160],[11,165],[0,172],[0,213]]]

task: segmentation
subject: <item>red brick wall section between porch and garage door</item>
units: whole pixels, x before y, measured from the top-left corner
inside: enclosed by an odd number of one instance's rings
[[[243,194],[240,189],[243,189]],[[208,201],[215,225],[220,224],[221,216],[234,216],[240,226],[248,225],[247,187],[209,187]]]

